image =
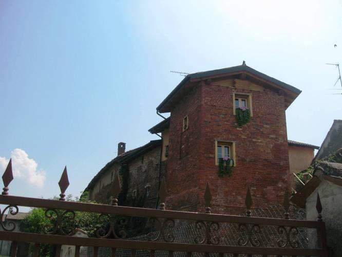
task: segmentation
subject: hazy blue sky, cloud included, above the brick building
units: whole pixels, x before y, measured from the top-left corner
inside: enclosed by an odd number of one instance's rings
[[[241,3],[240,3],[241,2]],[[320,145],[342,119],[340,1],[1,1],[0,171],[10,194],[79,195],[117,155],[158,139],[156,106],[197,72],[246,64],[302,90],[288,138]],[[334,48],[334,44],[337,47]]]

